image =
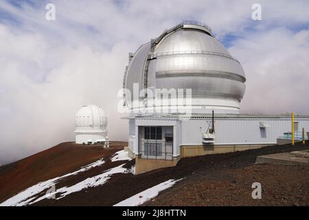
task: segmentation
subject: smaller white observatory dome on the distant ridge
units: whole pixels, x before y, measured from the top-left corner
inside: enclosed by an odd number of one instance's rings
[[[75,118],[76,144],[104,143],[107,136],[107,118],[101,107],[83,106]]]

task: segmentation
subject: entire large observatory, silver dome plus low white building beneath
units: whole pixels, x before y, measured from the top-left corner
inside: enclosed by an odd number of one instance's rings
[[[179,23],[130,53],[123,87],[135,172],[174,166],[181,157],[276,144],[290,135],[288,114],[240,114],[245,82],[240,62],[204,23]],[[294,125],[295,133],[308,131],[309,116],[295,116]]]

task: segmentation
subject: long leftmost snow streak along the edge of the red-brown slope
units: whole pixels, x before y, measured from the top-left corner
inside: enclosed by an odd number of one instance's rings
[[[34,186],[31,186],[30,188],[23,190],[22,192],[19,192],[18,194],[14,195],[10,199],[3,201],[3,203],[0,203],[0,206],[25,206],[25,205],[31,204],[30,201],[35,199],[34,197],[35,195],[37,195],[40,192],[43,192],[44,190],[51,188],[53,185],[57,184],[62,179],[65,179],[66,177],[69,177],[72,175],[77,175],[78,173],[87,171],[91,168],[94,168],[95,166],[101,166],[102,164],[104,164],[104,160],[99,159],[98,161],[93,162],[92,164],[89,164],[87,166],[82,166],[82,168],[80,168],[79,170],[73,173],[67,173],[66,175],[62,175],[54,179],[42,181]]]

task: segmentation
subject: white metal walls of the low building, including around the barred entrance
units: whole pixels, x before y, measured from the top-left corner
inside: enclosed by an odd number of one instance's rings
[[[180,155],[181,145],[201,145],[202,132],[206,132],[211,118],[190,120],[164,120],[163,118],[143,119],[132,118],[129,122],[129,147],[138,153],[139,126],[172,126],[174,157]],[[268,124],[268,128],[260,128],[260,122]],[[298,131],[304,127],[309,131],[309,117],[295,117]],[[215,144],[276,144],[277,137],[291,131],[291,119],[285,116],[274,117],[227,117],[215,118]]]

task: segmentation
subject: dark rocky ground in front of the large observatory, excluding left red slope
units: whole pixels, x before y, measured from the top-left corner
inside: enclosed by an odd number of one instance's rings
[[[144,206],[309,206],[308,166],[255,165],[258,155],[304,149],[309,149],[308,143],[183,158],[174,167],[136,176],[116,174],[102,186],[87,188],[59,200],[44,199],[34,206],[113,206],[163,181],[181,178],[182,181]],[[60,185],[71,186],[125,163],[108,162],[110,156],[104,155],[106,163],[102,166],[65,179]],[[134,160],[126,162],[126,167],[133,164]],[[262,199],[251,197],[251,185],[255,181],[262,184]]]

